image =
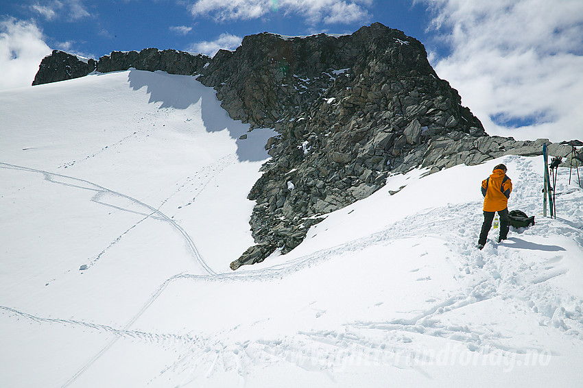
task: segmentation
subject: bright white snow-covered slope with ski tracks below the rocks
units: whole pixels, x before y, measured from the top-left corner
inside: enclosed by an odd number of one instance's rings
[[[568,169],[557,219],[540,215],[541,158],[394,175],[233,272],[273,133],[239,139],[213,90],[90,75],[0,93],[0,120],[3,387],[583,385]],[[479,251],[499,162],[536,225]]]

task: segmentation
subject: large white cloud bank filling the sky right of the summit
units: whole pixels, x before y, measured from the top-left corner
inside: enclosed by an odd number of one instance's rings
[[[582,138],[583,1],[424,1],[451,49],[432,64],[488,134]]]

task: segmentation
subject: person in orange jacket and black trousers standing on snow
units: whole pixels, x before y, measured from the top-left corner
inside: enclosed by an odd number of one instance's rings
[[[481,182],[481,195],[484,195],[484,223],[479,234],[479,249],[486,245],[496,212],[500,216],[498,242],[508,237],[508,198],[512,192],[512,180],[506,176],[506,171],[505,165],[497,165],[490,177]]]

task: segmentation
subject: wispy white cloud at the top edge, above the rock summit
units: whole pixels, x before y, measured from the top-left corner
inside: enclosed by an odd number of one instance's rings
[[[211,16],[217,21],[257,19],[270,12],[299,14],[308,23],[354,23],[368,19],[366,6],[372,0],[197,0],[193,16]]]

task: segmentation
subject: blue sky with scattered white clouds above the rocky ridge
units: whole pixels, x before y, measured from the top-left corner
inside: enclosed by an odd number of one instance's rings
[[[0,90],[29,86],[51,49],[213,55],[249,34],[351,33],[374,22],[420,40],[489,134],[583,138],[581,0],[1,1]]]

